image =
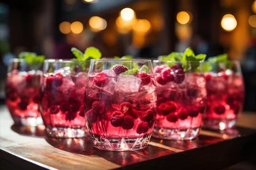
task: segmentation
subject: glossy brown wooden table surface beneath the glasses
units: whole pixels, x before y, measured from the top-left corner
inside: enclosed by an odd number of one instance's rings
[[[62,140],[48,137],[43,125],[13,125],[0,106],[0,169],[223,169],[255,156],[256,114],[242,114],[238,125],[225,133],[201,130],[196,140],[152,137],[142,151],[107,152],[90,137]]]

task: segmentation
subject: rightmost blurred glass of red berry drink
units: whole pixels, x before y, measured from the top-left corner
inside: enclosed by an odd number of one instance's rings
[[[242,112],[245,97],[240,62],[220,62],[212,66],[213,69],[205,73],[207,110],[203,127],[230,129]]]

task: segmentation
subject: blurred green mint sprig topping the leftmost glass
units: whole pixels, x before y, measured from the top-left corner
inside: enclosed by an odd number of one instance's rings
[[[31,69],[39,69],[45,60],[44,55],[37,55],[35,52],[21,52],[18,58],[25,60]]]

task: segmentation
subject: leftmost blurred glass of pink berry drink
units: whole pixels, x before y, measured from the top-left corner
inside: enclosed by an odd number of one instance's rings
[[[17,125],[41,125],[38,109],[42,72],[22,59],[11,60],[6,78],[6,106]]]

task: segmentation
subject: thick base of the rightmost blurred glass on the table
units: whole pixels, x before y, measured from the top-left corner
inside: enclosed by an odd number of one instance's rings
[[[236,120],[231,119],[209,119],[205,118],[203,120],[203,128],[213,129],[213,130],[226,130],[235,127]]]

